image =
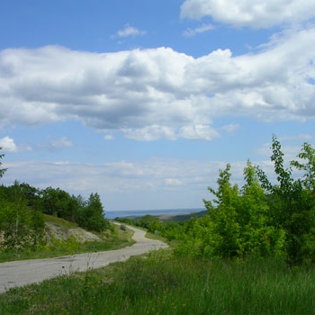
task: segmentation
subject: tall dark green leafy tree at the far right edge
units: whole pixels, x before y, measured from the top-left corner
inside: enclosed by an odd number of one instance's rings
[[[272,184],[266,174],[257,167],[259,179],[268,193],[270,207],[270,220],[277,229],[284,229],[286,238],[286,250],[288,261],[300,264],[310,253],[305,251],[306,240],[310,238],[311,229],[314,226],[314,202],[311,202],[310,194],[305,187],[311,188],[313,179],[314,151],[311,146],[304,144],[303,151],[299,157],[308,159],[308,163],[302,165],[294,161],[292,166],[306,170],[304,180],[293,178],[291,167],[284,166],[284,153],[279,140],[272,138],[273,154],[271,160],[274,162],[277,184]]]

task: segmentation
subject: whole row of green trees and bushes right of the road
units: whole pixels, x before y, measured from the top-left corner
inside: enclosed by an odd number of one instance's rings
[[[208,214],[181,224],[147,217],[138,224],[177,239],[175,254],[206,258],[281,257],[291,265],[315,262],[315,149],[304,143],[297,160],[285,166],[279,140],[272,139],[268,178],[247,161],[244,184],[231,183],[228,164],[220,170]],[[126,223],[128,221],[125,220]],[[137,224],[137,223],[136,223]]]

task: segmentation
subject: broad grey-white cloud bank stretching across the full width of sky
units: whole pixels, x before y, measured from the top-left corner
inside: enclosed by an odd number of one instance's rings
[[[0,124],[78,120],[126,138],[220,136],[215,119],[315,118],[315,28],[284,31],[256,54],[170,48],[115,53],[59,46],[0,51]],[[213,122],[214,121],[214,122]],[[224,129],[224,126],[220,126]]]

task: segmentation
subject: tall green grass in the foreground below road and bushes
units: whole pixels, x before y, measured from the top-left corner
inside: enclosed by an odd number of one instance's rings
[[[313,314],[315,271],[275,259],[206,261],[159,250],[17,288],[1,314]]]

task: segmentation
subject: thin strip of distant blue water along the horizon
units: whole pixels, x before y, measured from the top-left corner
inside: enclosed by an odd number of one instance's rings
[[[142,217],[144,215],[175,215],[175,214],[188,214],[193,212],[204,211],[202,208],[193,209],[165,209],[165,210],[125,210],[125,211],[105,211],[106,219],[115,219],[117,217]]]

